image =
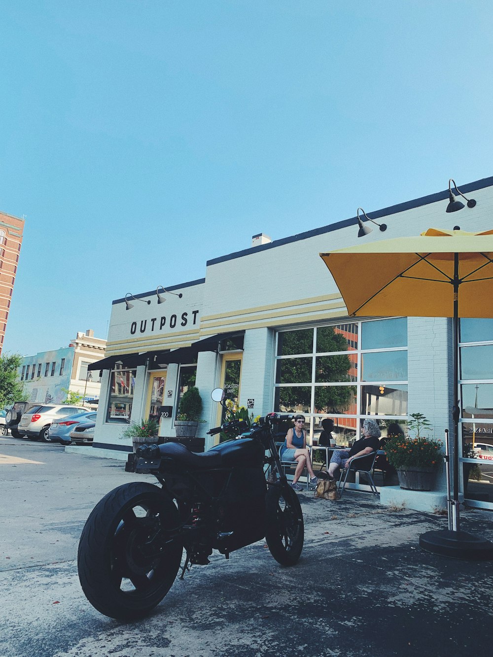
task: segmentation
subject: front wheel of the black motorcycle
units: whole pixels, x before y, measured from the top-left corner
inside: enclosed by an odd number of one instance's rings
[[[270,486],[266,494],[266,543],[281,566],[294,566],[303,550],[304,523],[298,495],[290,487]]]

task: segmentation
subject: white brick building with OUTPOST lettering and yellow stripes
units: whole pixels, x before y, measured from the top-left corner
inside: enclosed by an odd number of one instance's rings
[[[461,190],[477,200],[475,208],[446,214],[448,192],[442,191],[368,212],[385,222],[387,231],[372,225],[373,232],[360,240],[419,235],[430,227],[490,229],[493,178],[461,185]],[[316,440],[324,417],[334,419],[341,440],[359,437],[365,417],[378,419],[385,433],[388,422],[404,425],[415,412],[427,416],[436,437],[452,430],[451,320],[348,317],[319,253],[356,244],[357,235],[356,217],[273,242],[256,235],[255,246],[209,260],[204,279],[168,292],[158,288],[165,303],[158,304],[154,290],[134,291],[129,309],[125,299],[115,300],[106,359],[98,366],[103,379],[94,447],[130,451],[120,438],[122,422],[158,415],[160,407],[169,412],[160,422],[160,435],[173,436],[179,390],[194,377],[204,403],[202,437],[218,422],[210,392],[225,384],[239,386],[239,402],[254,415],[304,413],[310,440]],[[358,275],[371,273],[355,271]],[[225,334],[234,344],[221,340]],[[197,358],[186,349],[216,335],[210,350],[199,351]],[[467,440],[481,425],[482,440],[493,445],[493,320],[468,320],[463,335],[470,350],[481,343],[486,351],[474,376],[459,374],[461,429]],[[170,358],[170,350],[181,351]],[[471,407],[479,418],[473,428]],[[206,437],[206,449],[213,444]],[[473,503],[489,507],[493,495],[486,482],[469,495]]]

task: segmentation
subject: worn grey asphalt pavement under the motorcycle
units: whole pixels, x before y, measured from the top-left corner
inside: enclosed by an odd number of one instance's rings
[[[305,546],[283,568],[264,541],[193,566],[153,614],[120,623],[80,588],[83,524],[112,488],[150,475],[60,445],[0,438],[0,656],[217,657],[490,655],[492,562],[419,549],[446,517],[300,493]],[[493,540],[490,512],[461,529]]]

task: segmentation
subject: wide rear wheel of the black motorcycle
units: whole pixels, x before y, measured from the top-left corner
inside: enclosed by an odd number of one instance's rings
[[[168,542],[179,525],[173,501],[145,482],[124,484],[95,506],[82,530],[79,579],[85,597],[105,616],[136,620],[172,587],[183,543]]]

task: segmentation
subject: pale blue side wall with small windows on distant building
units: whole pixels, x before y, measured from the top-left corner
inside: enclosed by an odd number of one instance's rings
[[[23,383],[30,401],[63,403],[70,388],[73,363],[73,347],[41,351],[24,358],[22,365],[29,367],[29,374]]]

